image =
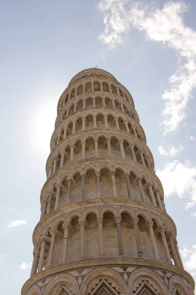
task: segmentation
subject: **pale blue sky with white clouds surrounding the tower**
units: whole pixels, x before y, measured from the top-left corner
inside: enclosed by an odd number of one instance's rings
[[[57,102],[79,71],[132,94],[196,280],[196,1],[0,0],[0,286],[20,295]]]

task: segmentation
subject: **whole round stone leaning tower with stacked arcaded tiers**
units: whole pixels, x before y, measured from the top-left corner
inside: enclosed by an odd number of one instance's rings
[[[79,72],[61,95],[22,295],[193,295],[129,91]]]

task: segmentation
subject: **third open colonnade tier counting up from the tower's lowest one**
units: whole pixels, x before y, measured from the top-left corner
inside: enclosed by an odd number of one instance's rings
[[[100,157],[116,157],[134,161],[147,167],[154,174],[154,160],[150,150],[145,144],[139,143],[134,136],[123,135],[112,130],[92,129],[91,132],[86,131],[59,140],[47,160],[47,177],[49,178],[59,168],[69,163]]]

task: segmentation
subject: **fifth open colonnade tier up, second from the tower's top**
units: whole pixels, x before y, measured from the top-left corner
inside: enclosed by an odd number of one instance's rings
[[[107,108],[116,111],[121,111],[131,118],[133,118],[139,124],[139,117],[136,110],[130,106],[130,104],[123,100],[122,97],[118,97],[115,94],[111,96],[105,94],[88,93],[88,95],[80,94],[73,100],[66,103],[60,110],[59,115],[56,118],[55,127],[68,116],[85,109],[91,108]]]

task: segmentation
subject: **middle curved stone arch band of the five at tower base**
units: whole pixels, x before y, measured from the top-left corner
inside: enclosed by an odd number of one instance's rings
[[[126,283],[123,277],[114,269],[111,268],[97,268],[92,270],[87,276],[84,278],[81,287],[80,287],[80,295],[84,295],[87,292],[88,286],[91,282],[98,278],[111,278],[115,282],[118,282],[121,292],[127,291]]]

